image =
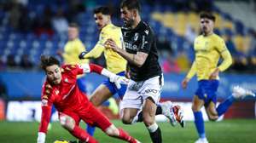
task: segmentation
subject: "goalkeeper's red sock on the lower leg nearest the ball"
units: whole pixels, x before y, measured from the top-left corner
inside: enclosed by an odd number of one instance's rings
[[[79,140],[86,141],[88,143],[97,143],[98,142],[93,137],[91,137],[90,134],[85,132],[84,129],[79,128],[79,126],[77,126],[77,125],[73,128],[73,131],[70,133],[73,134],[73,136],[75,136]]]

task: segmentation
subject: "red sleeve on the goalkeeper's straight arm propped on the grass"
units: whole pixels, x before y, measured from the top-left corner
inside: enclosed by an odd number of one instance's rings
[[[39,132],[47,133],[47,128],[50,120],[51,108],[53,104],[52,87],[49,83],[44,83],[41,95],[41,122],[39,125]]]

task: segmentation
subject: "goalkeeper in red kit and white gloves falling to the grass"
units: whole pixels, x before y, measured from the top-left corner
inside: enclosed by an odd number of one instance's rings
[[[127,142],[137,143],[123,129],[117,129],[108,118],[92,106],[86,95],[79,90],[77,75],[96,72],[109,77],[110,81],[120,87],[126,83],[125,77],[120,77],[94,64],[64,65],[52,56],[41,56],[41,68],[46,74],[42,89],[42,117],[38,131],[38,143],[44,143],[49,123],[52,105],[59,112],[61,126],[73,134],[80,142],[96,143],[97,140],[79,127],[80,120],[102,129],[103,132]]]

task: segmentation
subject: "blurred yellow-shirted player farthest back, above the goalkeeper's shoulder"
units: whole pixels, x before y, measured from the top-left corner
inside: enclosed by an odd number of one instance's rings
[[[85,51],[84,44],[79,39],[79,26],[76,23],[70,23],[68,26],[68,41],[64,47],[64,52],[59,52],[64,60],[64,64],[84,64],[89,60],[80,60],[79,54]],[[79,89],[86,93],[84,76],[78,77]]]

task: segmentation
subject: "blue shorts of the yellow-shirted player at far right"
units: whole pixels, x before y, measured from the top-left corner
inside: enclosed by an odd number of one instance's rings
[[[195,91],[195,95],[199,99],[205,101],[205,105],[209,104],[210,101],[216,104],[218,80],[201,80],[198,82],[198,89]]]

